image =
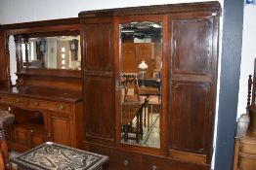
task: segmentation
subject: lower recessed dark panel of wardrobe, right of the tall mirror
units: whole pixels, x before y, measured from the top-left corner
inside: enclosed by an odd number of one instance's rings
[[[207,83],[173,82],[170,150],[205,153],[209,89]]]

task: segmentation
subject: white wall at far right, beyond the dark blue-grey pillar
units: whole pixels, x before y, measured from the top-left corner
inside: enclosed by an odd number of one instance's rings
[[[237,118],[246,112],[248,76],[253,75],[256,58],[256,6],[245,6],[243,15],[242,52]]]

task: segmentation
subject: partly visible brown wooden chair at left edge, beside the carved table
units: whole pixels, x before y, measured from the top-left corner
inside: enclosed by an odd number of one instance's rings
[[[15,116],[9,111],[0,110],[0,169],[11,168],[8,145],[5,138],[4,128],[15,122]]]

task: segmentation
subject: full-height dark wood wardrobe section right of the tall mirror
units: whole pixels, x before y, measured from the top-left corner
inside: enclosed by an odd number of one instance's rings
[[[216,13],[169,16],[169,156],[210,164],[216,92]]]

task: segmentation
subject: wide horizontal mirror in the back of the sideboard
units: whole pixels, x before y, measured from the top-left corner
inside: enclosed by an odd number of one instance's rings
[[[29,38],[21,44],[21,51],[23,67],[81,69],[79,35]]]

